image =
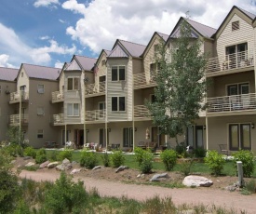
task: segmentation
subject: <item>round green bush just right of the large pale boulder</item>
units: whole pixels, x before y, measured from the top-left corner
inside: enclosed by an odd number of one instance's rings
[[[219,154],[216,150],[209,151],[207,156],[204,158],[207,166],[211,172],[218,176],[222,174],[222,169],[225,164],[225,160],[222,157],[222,154]]]

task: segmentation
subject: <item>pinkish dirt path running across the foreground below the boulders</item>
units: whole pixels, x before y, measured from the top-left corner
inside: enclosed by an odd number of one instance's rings
[[[34,181],[56,181],[60,177],[58,171],[25,171],[20,173],[21,178],[32,179]],[[145,200],[155,195],[160,197],[171,196],[175,205],[204,204],[215,205],[225,208],[233,208],[236,211],[247,210],[249,214],[256,213],[256,195],[242,195],[230,193],[223,190],[210,190],[209,188],[182,188],[168,189],[156,186],[125,184],[122,182],[95,180],[93,178],[76,175],[74,180],[80,179],[85,182],[89,190],[93,187],[98,189],[101,195],[121,197],[128,196],[136,200]]]

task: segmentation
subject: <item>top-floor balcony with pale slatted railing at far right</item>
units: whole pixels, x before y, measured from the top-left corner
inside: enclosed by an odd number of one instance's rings
[[[233,74],[241,70],[249,71],[251,66],[254,66],[252,51],[237,52],[225,55],[223,58],[209,58],[207,63],[207,76]]]

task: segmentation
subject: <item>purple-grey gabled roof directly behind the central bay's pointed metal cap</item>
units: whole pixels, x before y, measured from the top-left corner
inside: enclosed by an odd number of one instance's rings
[[[124,47],[125,50],[128,51],[128,54],[131,57],[136,57],[136,58],[140,58],[141,54],[143,53],[144,49],[146,48],[146,46],[143,46],[143,45],[140,45],[140,44],[124,41],[124,40],[121,40],[121,39],[116,39],[115,45],[112,48],[112,51],[114,50],[114,48],[117,44],[120,44],[122,47]]]

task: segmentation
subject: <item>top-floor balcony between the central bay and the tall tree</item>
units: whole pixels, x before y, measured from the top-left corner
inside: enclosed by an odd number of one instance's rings
[[[155,87],[155,75],[157,72],[152,71],[150,73],[133,74],[133,87],[134,89],[144,87]]]

